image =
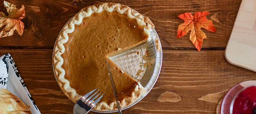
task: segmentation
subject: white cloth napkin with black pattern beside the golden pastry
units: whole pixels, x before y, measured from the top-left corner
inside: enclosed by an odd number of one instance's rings
[[[10,54],[0,57],[0,89],[9,90],[26,105],[29,105],[32,114],[41,114]]]

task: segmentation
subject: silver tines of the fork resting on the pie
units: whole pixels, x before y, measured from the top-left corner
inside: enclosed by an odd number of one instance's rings
[[[91,92],[84,95],[80,100],[82,100],[85,104],[94,107],[104,95],[104,92],[100,92],[99,89],[94,89]]]

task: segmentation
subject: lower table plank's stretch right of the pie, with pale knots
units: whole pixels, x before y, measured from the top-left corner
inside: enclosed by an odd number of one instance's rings
[[[143,101],[127,112],[216,114],[217,104],[230,87],[256,79],[255,72],[229,64],[222,50],[164,50],[163,57],[156,85]],[[169,93],[169,97],[161,97],[166,92],[176,95]],[[181,98],[178,102],[177,95]]]

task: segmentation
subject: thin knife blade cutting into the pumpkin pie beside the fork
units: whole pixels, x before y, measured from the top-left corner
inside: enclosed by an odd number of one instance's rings
[[[108,70],[109,70],[109,77],[110,77],[110,81],[111,81],[111,84],[112,84],[112,87],[113,87],[113,92],[115,94],[115,101],[117,102],[118,114],[122,114],[122,112],[120,110],[120,104],[118,102],[117,89],[115,88],[115,82],[113,80],[113,76],[112,76],[112,73],[111,73],[111,70],[110,70],[110,67],[109,67],[109,61],[108,60],[107,60],[107,67],[108,67]]]

